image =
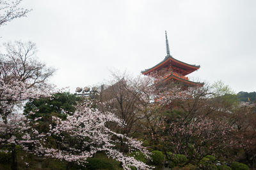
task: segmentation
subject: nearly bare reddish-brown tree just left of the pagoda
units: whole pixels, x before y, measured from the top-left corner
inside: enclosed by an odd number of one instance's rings
[[[138,132],[138,129],[154,131],[161,109],[175,99],[186,97],[186,91],[179,86],[158,82],[152,77],[113,73],[114,80],[101,92],[99,108],[111,111],[127,124],[124,134]]]

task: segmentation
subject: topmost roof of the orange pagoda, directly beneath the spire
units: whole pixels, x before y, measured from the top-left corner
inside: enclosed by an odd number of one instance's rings
[[[180,60],[177,60],[177,59],[173,58],[172,55],[167,55],[164,58],[164,60],[162,60],[161,62],[156,64],[156,66],[151,67],[149,69],[145,69],[144,71],[141,71],[141,73],[142,74],[148,74],[151,71],[154,71],[154,70],[160,69],[163,66],[166,66],[168,64],[168,62],[171,62],[172,65],[176,65],[176,66],[182,67],[182,69],[188,70],[189,73],[192,73],[193,71],[195,71],[195,70],[200,68],[200,66],[188,64],[186,62],[182,62]]]

